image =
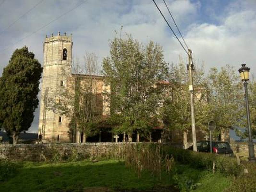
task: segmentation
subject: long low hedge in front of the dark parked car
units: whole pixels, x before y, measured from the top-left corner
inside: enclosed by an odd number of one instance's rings
[[[237,176],[242,171],[242,167],[237,165],[236,159],[233,157],[194,152],[190,150],[172,148],[170,146],[164,146],[163,152],[173,155],[174,159],[179,163],[188,164],[197,169],[212,170],[214,161],[215,170],[225,175]]]

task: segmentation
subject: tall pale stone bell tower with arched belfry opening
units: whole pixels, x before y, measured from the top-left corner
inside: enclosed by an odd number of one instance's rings
[[[44,66],[38,137],[43,142],[70,142],[68,120],[53,111],[47,110],[49,98],[56,96],[57,90],[65,87],[71,74],[72,34],[51,35],[44,41]]]

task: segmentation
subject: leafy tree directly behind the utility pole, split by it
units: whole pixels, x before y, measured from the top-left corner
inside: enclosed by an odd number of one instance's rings
[[[198,61],[199,62],[199,61]],[[185,60],[180,56],[178,64],[170,66],[171,93],[165,97],[161,116],[165,127],[169,130],[183,131],[186,139],[187,131],[191,127],[190,94],[188,91],[188,74]],[[194,62],[195,63],[195,62]],[[206,105],[204,64],[195,64],[194,80],[194,107],[196,125],[204,128],[202,124],[202,108]],[[200,94],[200,95],[199,95]],[[200,110],[198,110],[200,109]],[[186,141],[184,142],[186,143]]]

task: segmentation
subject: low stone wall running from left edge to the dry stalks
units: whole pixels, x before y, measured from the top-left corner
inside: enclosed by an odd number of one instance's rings
[[[132,143],[130,143],[132,144]],[[72,155],[88,157],[116,157],[124,150],[123,143],[48,143],[0,145],[0,159],[17,161],[45,161],[54,156],[68,158]]]

